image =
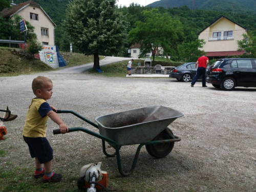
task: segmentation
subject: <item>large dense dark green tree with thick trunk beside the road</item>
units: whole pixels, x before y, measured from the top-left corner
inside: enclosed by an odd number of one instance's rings
[[[74,0],[68,5],[66,32],[72,45],[85,55],[94,55],[93,69],[99,69],[99,54],[116,55],[127,38],[127,22],[115,0]]]

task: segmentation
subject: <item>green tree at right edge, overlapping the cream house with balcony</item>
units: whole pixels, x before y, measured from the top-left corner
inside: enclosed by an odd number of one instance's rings
[[[244,57],[256,58],[256,36],[252,32],[243,34],[243,39],[238,40],[238,51],[245,51]]]

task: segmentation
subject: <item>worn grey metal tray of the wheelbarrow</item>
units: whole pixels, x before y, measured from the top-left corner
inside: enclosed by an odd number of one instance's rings
[[[147,106],[95,118],[99,133],[119,146],[147,143],[183,114],[161,105]],[[111,146],[114,144],[109,143]]]

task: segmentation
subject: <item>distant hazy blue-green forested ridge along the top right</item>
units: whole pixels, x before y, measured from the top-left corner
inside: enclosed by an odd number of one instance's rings
[[[187,6],[193,9],[193,0],[160,0],[146,7],[173,8]],[[216,11],[256,11],[255,0],[195,0],[195,9],[216,10]]]

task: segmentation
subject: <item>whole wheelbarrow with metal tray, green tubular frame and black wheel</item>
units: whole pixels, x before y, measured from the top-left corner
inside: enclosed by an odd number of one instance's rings
[[[151,156],[163,158],[173,150],[174,143],[181,140],[167,126],[178,117],[182,117],[183,114],[161,105],[101,115],[95,118],[98,125],[74,111],[57,110],[57,113],[71,113],[99,129],[98,134],[84,127],[72,127],[69,128],[68,133],[82,131],[101,139],[104,155],[116,156],[118,171],[122,176],[129,176],[133,173],[143,145]],[[60,130],[53,130],[53,134],[60,134]],[[115,148],[115,153],[108,154],[106,152],[105,141]],[[119,150],[123,145],[132,144],[139,144],[139,146],[130,171],[124,173]]]

